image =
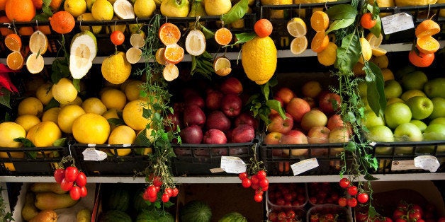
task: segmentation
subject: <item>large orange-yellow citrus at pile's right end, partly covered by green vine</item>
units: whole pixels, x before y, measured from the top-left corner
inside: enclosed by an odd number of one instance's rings
[[[127,103],[122,111],[122,117],[125,124],[134,130],[142,130],[150,124],[150,119],[142,117],[143,109],[150,109],[147,101],[133,100]]]

